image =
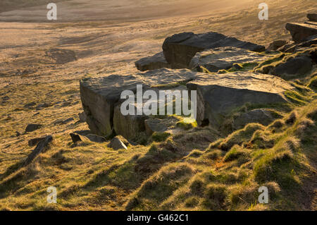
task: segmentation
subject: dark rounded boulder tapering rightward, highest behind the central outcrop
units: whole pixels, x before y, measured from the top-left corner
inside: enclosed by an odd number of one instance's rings
[[[184,32],[168,37],[163,43],[163,54],[172,68],[189,68],[189,63],[199,51],[217,47],[238,47],[250,51],[265,51],[265,47],[251,42],[242,42],[217,32],[195,35]]]

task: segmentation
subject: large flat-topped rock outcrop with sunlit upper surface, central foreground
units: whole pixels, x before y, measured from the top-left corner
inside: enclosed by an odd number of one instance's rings
[[[190,81],[191,80],[191,81]],[[285,103],[283,92],[293,87],[273,75],[251,72],[225,74],[196,73],[187,69],[159,69],[133,75],[110,75],[106,78],[81,80],[82,105],[87,123],[93,133],[110,135],[116,133],[134,140],[139,133],[151,135],[164,130],[158,120],[145,115],[123,115],[120,99],[123,90],[136,92],[143,85],[143,92],[164,89],[164,85],[187,82],[188,90],[197,90],[197,123],[219,128],[223,118],[233,109],[250,104]],[[170,88],[170,87],[169,87]],[[135,107],[135,102],[132,102]],[[133,109],[133,108],[132,108]],[[155,123],[154,123],[155,122]],[[159,124],[159,125],[158,125]]]

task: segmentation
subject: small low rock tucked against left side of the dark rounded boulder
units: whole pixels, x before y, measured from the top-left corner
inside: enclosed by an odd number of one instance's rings
[[[135,66],[139,71],[153,71],[159,68],[170,68],[170,64],[166,61],[163,51],[154,56],[139,59],[135,62]]]

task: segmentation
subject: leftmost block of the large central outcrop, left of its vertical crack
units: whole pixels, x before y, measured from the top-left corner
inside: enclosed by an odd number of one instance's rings
[[[110,135],[113,132],[113,111],[121,92],[135,92],[137,85],[145,85],[137,75],[109,75],[104,78],[80,80],[82,107],[93,133]]]

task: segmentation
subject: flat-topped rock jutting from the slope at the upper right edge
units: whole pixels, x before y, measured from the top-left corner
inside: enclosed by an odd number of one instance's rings
[[[287,23],[285,28],[290,31],[294,42],[302,42],[309,36],[317,35],[317,26],[305,23]]]

